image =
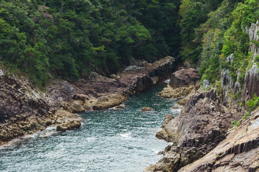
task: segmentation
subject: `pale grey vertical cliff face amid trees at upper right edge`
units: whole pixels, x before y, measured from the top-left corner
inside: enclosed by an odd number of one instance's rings
[[[259,30],[259,21],[257,20],[256,23],[252,23],[250,28],[245,28],[244,32],[248,34],[250,40],[258,41],[258,30]],[[249,49],[252,52],[251,60],[254,60],[254,57],[259,53],[259,46],[256,45],[254,42],[250,42]]]

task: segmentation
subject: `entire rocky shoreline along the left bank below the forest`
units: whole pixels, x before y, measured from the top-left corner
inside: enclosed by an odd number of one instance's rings
[[[80,117],[75,113],[118,106],[129,96],[169,79],[174,69],[174,58],[168,56],[142,67],[127,67],[111,78],[55,80],[44,93],[28,79],[0,70],[0,145],[47,126],[57,125],[58,131],[79,128]]]

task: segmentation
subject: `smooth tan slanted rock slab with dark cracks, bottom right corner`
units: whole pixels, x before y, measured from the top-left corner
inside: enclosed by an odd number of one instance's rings
[[[227,137],[202,159],[179,171],[251,171],[259,169],[259,112],[234,126]]]

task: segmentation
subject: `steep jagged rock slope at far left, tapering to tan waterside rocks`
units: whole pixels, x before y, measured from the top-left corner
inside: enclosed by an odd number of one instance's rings
[[[53,101],[47,101],[27,79],[10,77],[0,70],[0,145],[70,119],[79,117],[57,110]],[[78,120],[76,127],[80,126]]]

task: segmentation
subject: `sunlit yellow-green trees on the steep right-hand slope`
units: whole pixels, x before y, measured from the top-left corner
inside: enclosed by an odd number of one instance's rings
[[[253,64],[249,37],[244,30],[259,20],[258,9],[256,0],[182,1],[182,59],[200,69],[202,80],[213,83],[219,81],[222,69],[229,70],[233,81],[239,71],[242,86],[245,71]],[[229,63],[226,59],[231,54],[233,62]]]

